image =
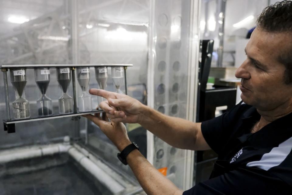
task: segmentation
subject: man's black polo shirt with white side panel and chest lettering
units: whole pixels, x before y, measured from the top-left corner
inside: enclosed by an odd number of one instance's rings
[[[292,113],[250,133],[257,110],[243,102],[202,122],[203,136],[218,154],[210,179],[189,194],[292,195]]]

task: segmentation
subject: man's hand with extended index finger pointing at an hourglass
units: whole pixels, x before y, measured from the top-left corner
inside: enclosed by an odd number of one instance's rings
[[[140,101],[125,94],[118,94],[101,89],[90,89],[89,93],[106,98],[99,108],[106,112],[112,122],[139,123],[142,118],[144,105]]]

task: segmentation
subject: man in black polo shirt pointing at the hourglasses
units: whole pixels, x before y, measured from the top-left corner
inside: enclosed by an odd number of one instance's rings
[[[139,123],[168,144],[212,148],[219,156],[209,180],[183,192],[138,150],[125,160],[147,194],[292,194],[292,2],[267,7],[246,45],[242,102],[202,123],[163,115],[126,95],[91,89],[111,122],[86,115],[119,151],[131,144],[123,123]]]

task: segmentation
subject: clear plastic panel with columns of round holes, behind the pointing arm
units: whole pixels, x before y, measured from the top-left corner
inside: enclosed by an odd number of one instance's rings
[[[154,10],[151,11],[154,14],[151,24],[153,37],[150,37],[150,40],[157,41],[153,43],[153,48],[149,48],[155,51],[155,59],[152,61],[153,72],[148,73],[154,74],[152,106],[166,115],[189,119],[188,93],[189,88],[195,85],[188,80],[191,76],[189,67],[192,66],[189,62],[189,55],[192,55],[190,43],[193,41],[193,37],[190,36],[193,30],[190,29],[193,21],[191,9],[196,9],[194,12],[197,12],[199,2],[189,0],[154,2],[155,6],[152,7]],[[192,162],[191,158],[192,153],[174,148],[154,136],[153,165],[158,169],[166,167],[167,177],[180,189],[191,187],[193,164],[188,164],[188,161]]]

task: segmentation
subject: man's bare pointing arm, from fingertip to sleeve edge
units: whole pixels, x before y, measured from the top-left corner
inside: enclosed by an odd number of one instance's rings
[[[166,143],[189,150],[210,149],[201,132],[201,123],[166,116],[124,94],[90,89],[90,94],[107,99],[100,108],[113,122],[139,123]]]

